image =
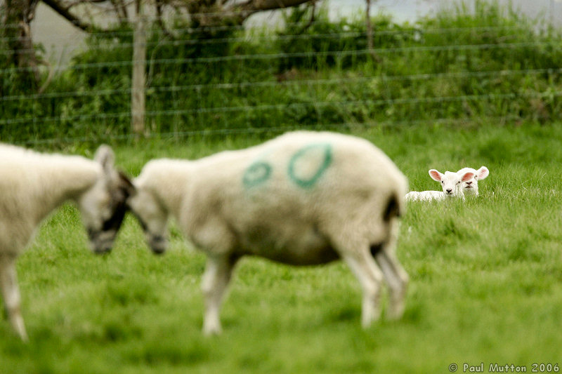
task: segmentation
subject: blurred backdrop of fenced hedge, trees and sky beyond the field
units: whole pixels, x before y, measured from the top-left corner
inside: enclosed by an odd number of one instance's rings
[[[3,0],[0,8],[4,142],[561,117],[555,0]]]

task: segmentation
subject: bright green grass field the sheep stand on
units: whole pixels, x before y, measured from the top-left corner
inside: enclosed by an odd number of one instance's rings
[[[128,217],[114,251],[100,257],[67,205],[18,261],[30,342],[0,320],[0,373],[449,373],[450,363],[459,373],[463,363],[560,370],[562,126],[353,133],[391,156],[412,189],[439,188],[429,168],[490,169],[478,199],[410,203],[398,244],[411,279],[402,320],[362,330],[359,284],[341,262],[294,268],[246,258],[223,305],[223,335],[204,338],[204,255],[176,227],[169,251],[155,256]],[[137,175],[151,158],[262,140],[148,140],[115,152]]]

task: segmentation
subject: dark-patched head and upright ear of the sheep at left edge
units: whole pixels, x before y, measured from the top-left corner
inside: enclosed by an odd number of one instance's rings
[[[94,185],[79,196],[77,203],[92,251],[107,253],[121,227],[126,199],[133,188],[129,179],[115,169],[115,156],[110,147],[100,146],[94,161],[100,163],[101,173]]]

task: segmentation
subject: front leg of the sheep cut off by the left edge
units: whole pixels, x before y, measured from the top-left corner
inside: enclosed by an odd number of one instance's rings
[[[20,338],[27,342],[27,333],[21,313],[21,296],[18,276],[15,273],[15,257],[0,255],[0,288],[8,319]]]

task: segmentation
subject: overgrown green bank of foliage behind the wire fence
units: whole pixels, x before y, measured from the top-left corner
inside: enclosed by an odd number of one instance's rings
[[[176,27],[173,38],[152,27],[144,44],[143,135],[559,121],[558,30],[499,21],[462,27],[384,21],[372,33],[374,48],[358,21],[214,27],[212,37],[202,36],[209,27]],[[0,140],[51,145],[138,138],[131,131],[131,72],[138,63],[132,31],[92,34],[71,62],[39,68],[8,63],[29,51],[9,48],[14,40],[4,31]],[[39,84],[51,79],[44,91],[37,83],[22,85],[21,76],[32,75]]]

